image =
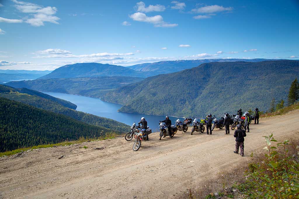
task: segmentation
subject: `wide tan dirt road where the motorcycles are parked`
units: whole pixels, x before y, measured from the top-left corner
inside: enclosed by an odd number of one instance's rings
[[[265,145],[261,136],[298,138],[298,129],[299,110],[251,124],[244,157],[233,153],[234,131],[224,135],[224,129],[190,135],[189,128],[161,141],[152,133],[138,152],[124,138],[37,149],[0,158],[0,198],[177,198],[249,161]],[[84,145],[88,148],[79,148]]]

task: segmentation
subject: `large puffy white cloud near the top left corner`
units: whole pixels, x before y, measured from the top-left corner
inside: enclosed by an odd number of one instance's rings
[[[54,16],[57,12],[56,7],[43,7],[41,5],[28,3],[24,1],[12,0],[16,5],[16,9],[22,13],[28,13],[29,16],[24,18],[25,23],[28,23],[32,26],[44,26],[44,22],[50,22],[54,24],[59,24],[59,17]],[[22,22],[22,21],[21,21]],[[20,22],[15,22],[20,23]]]

